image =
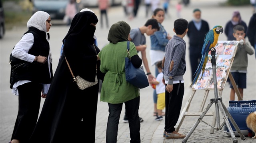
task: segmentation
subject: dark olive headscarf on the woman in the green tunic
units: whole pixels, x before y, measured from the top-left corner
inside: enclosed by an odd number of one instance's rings
[[[113,24],[108,32],[108,41],[116,44],[121,41],[128,41],[128,35],[131,27],[124,21],[119,21]]]

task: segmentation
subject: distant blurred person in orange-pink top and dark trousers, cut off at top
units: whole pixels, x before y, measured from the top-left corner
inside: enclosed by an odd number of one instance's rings
[[[108,2],[108,0],[98,0],[98,6],[100,9],[100,27],[103,28],[103,15],[105,14],[106,27],[108,28],[107,10],[108,10],[108,6],[109,6],[109,2]]]

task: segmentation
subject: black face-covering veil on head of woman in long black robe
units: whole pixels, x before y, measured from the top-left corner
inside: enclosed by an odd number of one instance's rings
[[[69,35],[78,35],[84,37],[84,41],[92,44],[94,43],[94,32],[96,27],[90,24],[97,24],[97,16],[90,11],[78,12],[70,25],[67,35],[64,37],[66,39]],[[64,40],[63,39],[63,40]],[[64,43],[64,42],[63,42]]]

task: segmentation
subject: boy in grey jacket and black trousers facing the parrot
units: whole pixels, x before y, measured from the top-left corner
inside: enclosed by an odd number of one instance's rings
[[[164,137],[166,139],[186,137],[186,135],[175,131],[174,126],[180,115],[184,95],[183,75],[186,71],[186,42],[183,37],[188,32],[188,21],[182,18],[175,20],[173,31],[176,35],[166,45],[166,54],[162,62],[164,73],[162,82],[166,86],[164,123]]]

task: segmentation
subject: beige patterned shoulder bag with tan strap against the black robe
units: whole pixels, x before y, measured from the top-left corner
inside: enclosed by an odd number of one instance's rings
[[[66,57],[65,57],[65,59],[66,59]],[[68,64],[67,59],[66,59],[66,62]],[[84,78],[80,77],[79,75],[75,77],[73,72],[72,72],[72,70],[71,70],[71,68],[70,68],[70,66],[69,66],[69,64],[68,64],[68,68],[69,68],[69,70],[70,70],[70,72],[71,72],[71,74],[73,76],[73,79],[76,82],[76,84],[77,84],[79,89],[84,90],[84,89],[86,89],[88,87],[91,87],[93,85],[96,85],[98,83],[97,75],[95,75],[95,82],[90,82],[90,81],[87,81]]]

